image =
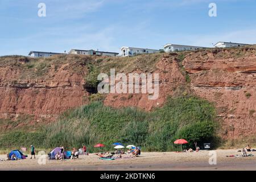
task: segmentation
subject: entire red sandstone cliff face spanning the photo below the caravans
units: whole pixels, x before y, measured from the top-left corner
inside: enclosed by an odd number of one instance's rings
[[[28,114],[35,115],[37,121],[54,121],[63,111],[88,104],[85,77],[90,63],[101,72],[118,68],[123,73],[159,73],[157,100],[148,100],[148,94],[107,94],[105,105],[138,106],[149,111],[163,106],[168,96],[190,92],[214,102],[223,121],[224,138],[256,133],[256,47],[131,58],[12,56],[1,57],[0,63],[1,118]]]

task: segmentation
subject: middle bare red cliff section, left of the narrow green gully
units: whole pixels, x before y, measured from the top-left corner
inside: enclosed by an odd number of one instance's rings
[[[136,70],[133,73],[143,73]],[[154,107],[163,106],[166,98],[172,96],[179,86],[186,83],[185,76],[181,73],[179,63],[175,56],[165,55],[155,65],[154,73],[159,74],[159,97],[149,100],[148,94],[108,94],[104,104],[114,107],[138,106],[144,110],[152,110]]]

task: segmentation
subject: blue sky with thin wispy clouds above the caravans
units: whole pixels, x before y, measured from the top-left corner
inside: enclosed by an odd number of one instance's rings
[[[46,17],[38,4],[46,4]],[[217,17],[209,17],[209,3]],[[166,43],[256,44],[255,0],[1,0],[0,56]]]

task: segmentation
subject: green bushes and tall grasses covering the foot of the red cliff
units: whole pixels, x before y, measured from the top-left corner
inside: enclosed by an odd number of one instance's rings
[[[96,151],[96,143],[104,150],[113,150],[112,143],[135,144],[146,151],[176,150],[174,140],[184,138],[193,147],[212,142],[216,136],[216,112],[212,104],[197,97],[169,98],[166,105],[152,112],[131,107],[113,109],[102,102],[66,111],[59,121],[34,133],[24,131],[2,135],[0,146],[29,146],[41,148],[64,145],[67,148],[86,144]]]

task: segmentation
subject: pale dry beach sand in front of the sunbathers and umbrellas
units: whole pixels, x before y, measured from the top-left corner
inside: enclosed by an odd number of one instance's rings
[[[137,158],[116,160],[100,160],[97,155],[80,156],[73,160],[46,160],[45,165],[38,164],[37,159],[18,161],[0,161],[0,170],[256,170],[256,152],[248,152],[253,157],[232,157],[226,155],[241,155],[238,150],[216,150],[217,164],[209,164],[209,151],[192,153],[176,152],[142,152]],[[127,157],[127,158],[126,158]],[[0,159],[5,159],[0,155]]]

